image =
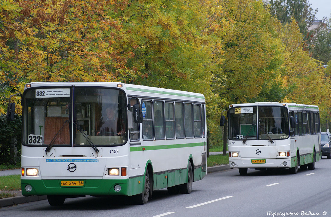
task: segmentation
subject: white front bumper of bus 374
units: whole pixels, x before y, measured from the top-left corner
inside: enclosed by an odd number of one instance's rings
[[[258,159],[265,162],[253,163],[257,159],[229,159],[230,168],[290,168],[291,158]]]

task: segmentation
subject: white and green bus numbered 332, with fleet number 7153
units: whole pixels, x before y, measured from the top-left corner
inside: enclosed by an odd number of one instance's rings
[[[204,95],[122,83],[24,88],[22,195],[51,205],[84,195],[192,190],[207,173]],[[15,105],[10,104],[8,115]]]

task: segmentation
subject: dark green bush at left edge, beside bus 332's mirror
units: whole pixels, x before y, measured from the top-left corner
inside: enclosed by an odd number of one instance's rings
[[[15,120],[7,121],[6,115],[0,115],[0,164],[8,164],[21,161],[21,132],[22,117],[15,115]],[[10,159],[10,146],[12,138],[16,138],[15,146],[17,148],[16,159]]]

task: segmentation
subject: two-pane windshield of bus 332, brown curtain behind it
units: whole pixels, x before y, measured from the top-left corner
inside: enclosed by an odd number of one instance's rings
[[[52,142],[55,146],[69,146],[73,141],[73,145],[81,146],[125,142],[126,100],[122,91],[76,87],[73,93],[74,112],[71,88],[30,89],[24,93],[23,144]]]

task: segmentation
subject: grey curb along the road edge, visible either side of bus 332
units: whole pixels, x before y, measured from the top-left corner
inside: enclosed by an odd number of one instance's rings
[[[211,166],[211,167],[207,167],[207,173],[214,173],[214,172],[219,172],[219,171],[223,171],[223,170],[227,170],[227,169],[230,169],[229,164]],[[28,202],[34,202],[34,201],[46,200],[46,199],[47,199],[47,195],[8,197],[8,198],[0,199],[0,207],[12,206],[12,205],[17,205],[17,204],[21,204],[21,203],[28,203]]]

